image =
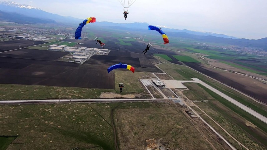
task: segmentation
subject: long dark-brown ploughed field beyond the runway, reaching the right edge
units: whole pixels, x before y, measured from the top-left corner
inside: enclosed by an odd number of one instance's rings
[[[208,75],[220,82],[225,83],[237,90],[240,90],[262,102],[267,103],[267,86],[266,84],[252,79],[250,77],[246,77],[244,75],[238,75],[231,72],[226,71],[214,71],[213,69],[206,68],[199,63],[190,63],[185,62],[186,65],[192,67],[195,70],[200,71],[201,73]]]

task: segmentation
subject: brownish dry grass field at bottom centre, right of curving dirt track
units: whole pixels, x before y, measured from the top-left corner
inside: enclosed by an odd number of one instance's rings
[[[133,105],[132,109],[118,107],[114,116],[120,149],[147,150],[150,142],[146,141],[153,138],[155,146],[159,141],[160,145],[171,150],[214,149],[209,143],[218,145],[218,150],[223,149],[210,138],[212,133],[203,124],[197,122],[192,125],[193,119],[188,119],[186,115],[168,103],[144,103]]]

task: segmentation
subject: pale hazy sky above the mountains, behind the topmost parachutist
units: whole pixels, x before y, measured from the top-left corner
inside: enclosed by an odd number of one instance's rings
[[[122,14],[121,0],[9,1],[81,20],[96,17],[97,22],[147,22],[150,25],[237,38],[267,37],[267,0],[136,0],[129,8],[126,20]],[[125,1],[128,4],[128,0]]]

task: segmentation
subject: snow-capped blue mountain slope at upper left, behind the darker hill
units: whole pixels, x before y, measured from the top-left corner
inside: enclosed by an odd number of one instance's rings
[[[30,5],[21,5],[15,2],[0,2],[0,10],[4,12],[16,12],[28,17],[52,19],[55,20],[57,23],[65,23],[68,25],[77,25],[82,20],[74,17],[64,17],[58,14],[45,12],[39,8],[32,7]]]

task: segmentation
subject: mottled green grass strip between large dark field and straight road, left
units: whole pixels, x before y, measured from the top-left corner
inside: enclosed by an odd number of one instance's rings
[[[0,99],[93,99],[102,92],[114,92],[112,89],[87,89],[71,87],[53,87],[42,85],[0,84]]]

